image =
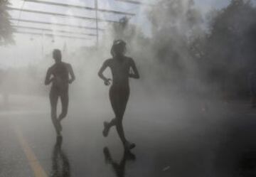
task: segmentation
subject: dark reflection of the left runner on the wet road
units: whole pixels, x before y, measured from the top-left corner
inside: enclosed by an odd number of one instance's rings
[[[57,136],[56,144],[53,148],[51,177],[70,177],[70,163],[61,149],[62,141],[63,137]]]

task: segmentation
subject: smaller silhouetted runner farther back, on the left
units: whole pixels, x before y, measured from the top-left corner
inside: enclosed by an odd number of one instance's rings
[[[61,61],[60,50],[53,50],[53,59],[55,60],[55,64],[48,69],[45,84],[49,85],[52,82],[50,89],[51,119],[56,133],[60,135],[62,130],[60,121],[68,113],[68,84],[71,84],[75,80],[75,75],[72,66]],[[57,118],[57,102],[59,97],[62,104],[62,111]]]

